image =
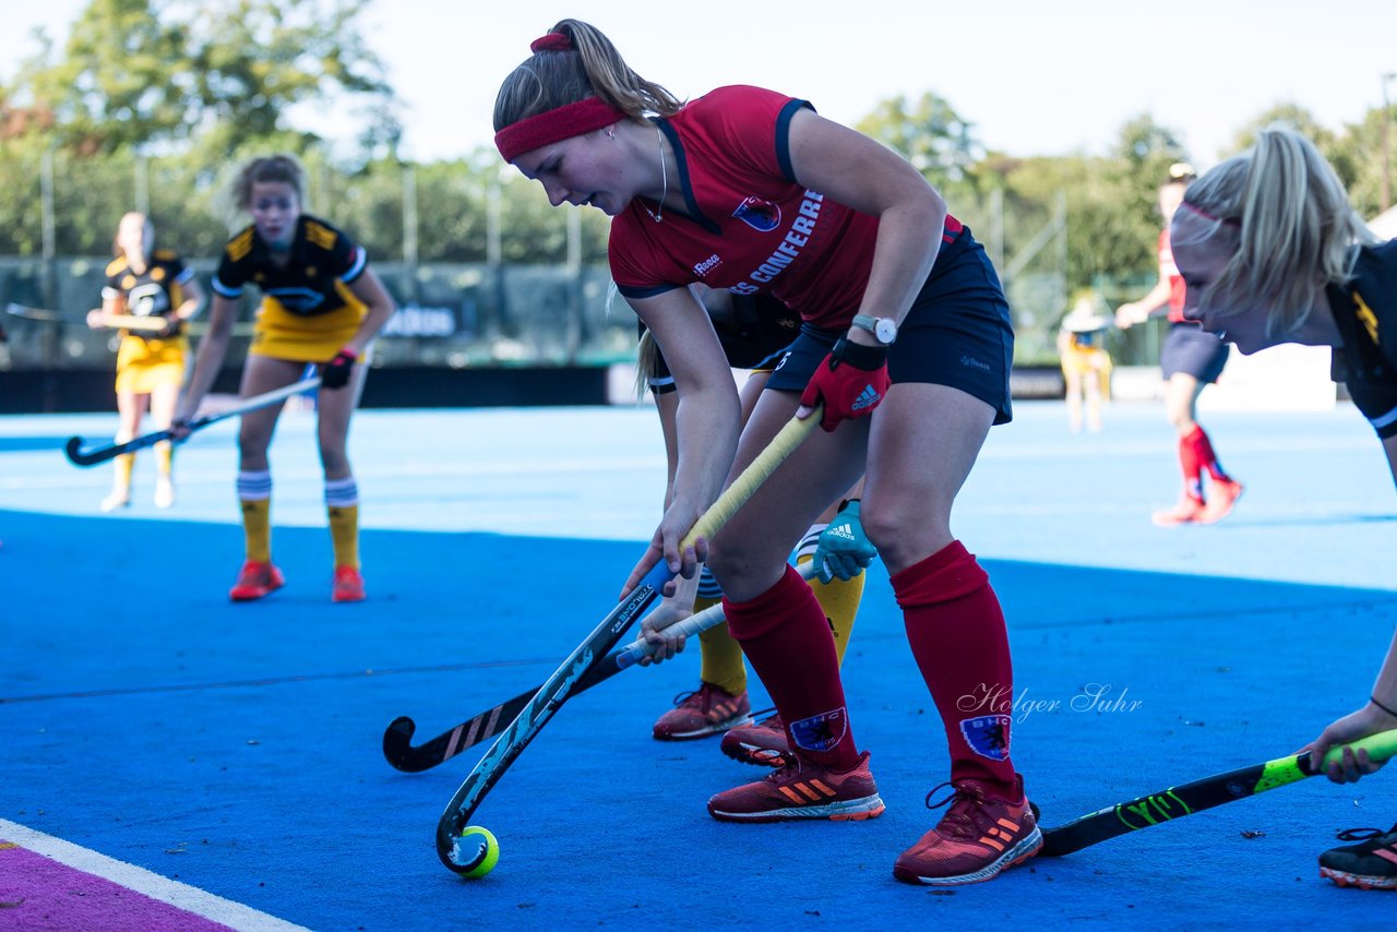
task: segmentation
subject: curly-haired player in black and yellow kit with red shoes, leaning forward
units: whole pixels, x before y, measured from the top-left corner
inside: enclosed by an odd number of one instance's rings
[[[303,173],[286,155],[253,159],[237,177],[235,196],[253,224],[233,236],[214,277],[208,335],[198,347],[194,374],[180,402],[176,426],[187,423],[214,383],[228,352],[237,299],[256,285],[261,307],[243,365],[239,394],[260,395],[292,384],[306,363],[320,369],[320,461],[334,542],[337,602],[363,599],[359,573],[359,486],[349,468],[349,418],[363,390],[362,363],[373,338],[393,316],[383,282],[360,246],[323,219],[302,212]],[[271,471],[267,447],[281,405],[243,415],[237,435],[237,497],[247,556],[229,591],[235,602],[279,588],[285,580],[271,562]]]

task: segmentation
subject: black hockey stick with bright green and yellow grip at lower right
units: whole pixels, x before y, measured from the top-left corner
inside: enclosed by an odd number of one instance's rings
[[[1397,756],[1397,729],[1369,735],[1348,745],[1355,752],[1366,749],[1372,760],[1387,760]],[[1324,755],[1324,762],[1338,760],[1344,748],[1331,748]],[[1275,789],[1287,784],[1298,782],[1310,773],[1310,756],[1306,750],[1302,755],[1277,757],[1250,767],[1239,767],[1211,777],[1203,777],[1180,787],[1171,787],[1160,792],[1151,792],[1132,799],[1106,806],[1099,812],[1073,819],[1065,826],[1048,829],[1044,833],[1044,847],[1039,854],[1058,857],[1081,851],[1088,845],[1148,829],[1161,822],[1171,822],[1192,816],[1194,812],[1221,806],[1236,799],[1255,796],[1267,789]]]

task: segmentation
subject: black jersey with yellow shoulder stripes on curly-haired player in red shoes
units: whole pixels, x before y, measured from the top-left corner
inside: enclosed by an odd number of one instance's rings
[[[363,274],[367,264],[362,246],[326,221],[302,214],[285,265],[272,261],[257,228],[247,226],[224,247],[212,286],[224,298],[237,298],[251,282],[292,314],[317,317],[348,303],[341,286]]]

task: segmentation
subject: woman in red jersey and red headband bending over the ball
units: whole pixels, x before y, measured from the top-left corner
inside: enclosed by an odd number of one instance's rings
[[[940,823],[894,864],[902,880],[986,880],[1042,844],[1009,756],[1009,637],[989,577],[950,531],[993,423],[1010,418],[1009,306],[983,249],[902,158],[800,99],[721,87],[680,103],[612,42],[564,20],[500,88],[496,145],[553,204],[610,215],[622,296],[679,395],[673,495],[627,588],[664,559],[707,559],[732,636],[781,713],[792,760],[721,792],[728,822],[883,812],[854,742],[834,644],[787,556],[861,474],[865,531],[887,563],[951,759]],[[687,285],[770,293],[800,335],[740,430],[722,347]],[[821,426],[711,546],[679,541],[792,416]],[[661,636],[662,633],[657,634]]]

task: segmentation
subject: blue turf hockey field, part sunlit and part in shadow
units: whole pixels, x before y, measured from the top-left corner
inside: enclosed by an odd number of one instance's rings
[[[956,531],[1004,602],[1020,693],[1058,703],[1021,708],[1014,731],[1045,824],[1282,756],[1363,700],[1397,620],[1397,493],[1356,412],[1206,415],[1248,492],[1222,524],[1168,531],[1148,521],[1178,486],[1157,405],[1109,408],[1098,436],[1069,435],[1059,404],[1016,415]],[[1336,830],[1397,820],[1391,771],[1305,781],[988,884],[895,883],[893,858],[935,823],[922,799],[946,757],[879,565],[845,680],[882,819],[712,822],[707,796],[759,771],[715,741],[650,738],[696,685],[690,655],[569,703],[478,812],[503,857],[464,882],[432,831],[478,755],[400,774],[383,729],[408,714],[423,739],[536,685],[610,609],[664,492],[654,414],[362,412],[362,605],[328,601],[310,415],[289,412],[272,449],[289,583],[251,605],[226,601],[233,426],[182,449],[175,509],[149,504],[144,456],[136,504],[102,516],[109,471],[59,449],[113,428],[0,418],[0,819],[314,929],[1391,921],[1391,897],[1316,869]],[[1092,683],[1125,703],[1084,708]]]

